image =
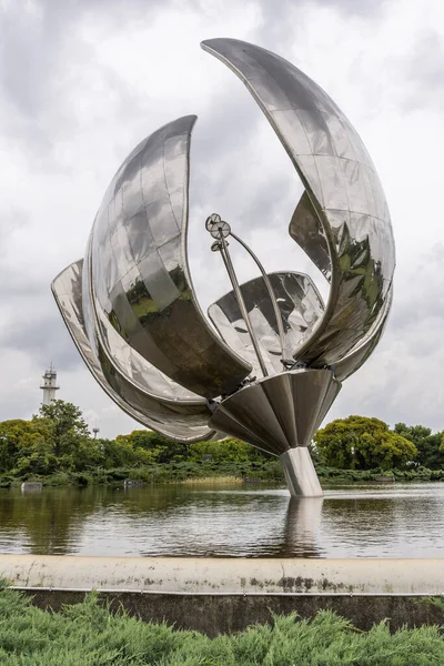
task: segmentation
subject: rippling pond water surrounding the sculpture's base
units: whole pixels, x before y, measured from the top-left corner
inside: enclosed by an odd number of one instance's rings
[[[444,483],[0,490],[0,553],[444,557]]]

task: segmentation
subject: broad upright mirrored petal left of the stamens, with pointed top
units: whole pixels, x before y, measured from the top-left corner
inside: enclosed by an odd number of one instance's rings
[[[99,336],[111,357],[113,329],[172,382],[215,397],[233,391],[251,366],[214,334],[190,278],[185,245],[194,122],[195,115],[188,115],[168,123],[124,160],[95,218],[84,271],[90,270]]]

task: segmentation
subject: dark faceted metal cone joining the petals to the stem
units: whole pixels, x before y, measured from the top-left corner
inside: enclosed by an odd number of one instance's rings
[[[340,390],[330,370],[281,373],[226,397],[209,423],[262,451],[282,455],[310,444]]]

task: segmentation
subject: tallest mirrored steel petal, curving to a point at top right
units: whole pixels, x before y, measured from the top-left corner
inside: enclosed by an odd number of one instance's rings
[[[372,160],[342,111],[293,64],[233,39],[202,47],[245,83],[289,153],[322,225],[332,270],[330,297],[322,322],[296,356],[315,367],[334,365],[380,321],[393,279],[390,214]]]

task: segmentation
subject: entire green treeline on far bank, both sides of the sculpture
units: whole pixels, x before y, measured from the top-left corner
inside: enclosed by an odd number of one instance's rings
[[[312,457],[321,478],[444,480],[444,433],[377,418],[349,416],[314,436]],[[283,482],[276,457],[239,440],[181,444],[140,430],[115,440],[91,437],[82,413],[57,400],[30,421],[0,423],[0,485],[30,478],[54,483],[152,482],[229,476]]]

